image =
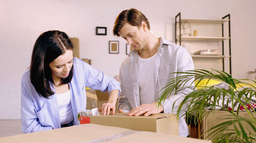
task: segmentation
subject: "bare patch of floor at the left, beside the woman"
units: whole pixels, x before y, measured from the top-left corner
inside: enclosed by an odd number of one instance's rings
[[[0,120],[0,138],[22,134],[20,120]]]

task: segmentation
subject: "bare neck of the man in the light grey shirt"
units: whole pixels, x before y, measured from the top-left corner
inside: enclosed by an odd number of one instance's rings
[[[138,51],[141,58],[150,58],[156,54],[160,45],[160,38],[155,38],[151,33],[147,38],[147,43],[143,49]]]

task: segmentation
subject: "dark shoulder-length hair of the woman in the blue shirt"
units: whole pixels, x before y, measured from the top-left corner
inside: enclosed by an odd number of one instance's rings
[[[52,30],[38,37],[31,56],[30,80],[39,95],[49,98],[54,94],[50,86],[50,83],[54,82],[49,63],[64,54],[67,49],[73,50],[73,45],[64,32]],[[72,77],[73,66],[68,77],[62,79],[62,84],[69,83]]]

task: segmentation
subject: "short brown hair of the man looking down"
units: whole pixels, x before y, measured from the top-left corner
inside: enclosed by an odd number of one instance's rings
[[[141,11],[134,8],[122,11],[118,17],[116,17],[115,25],[113,27],[114,36],[120,36],[120,29],[126,22],[132,26],[140,27],[141,21],[145,21],[147,23],[147,28],[150,30],[149,21],[147,21],[146,16],[141,13]]]

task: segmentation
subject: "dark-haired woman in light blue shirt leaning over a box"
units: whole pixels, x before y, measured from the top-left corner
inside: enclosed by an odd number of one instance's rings
[[[109,91],[102,112],[115,111],[119,82],[74,58],[66,33],[53,30],[41,34],[34,45],[30,70],[22,76],[22,132],[79,125],[77,114],[86,110],[85,87]]]

